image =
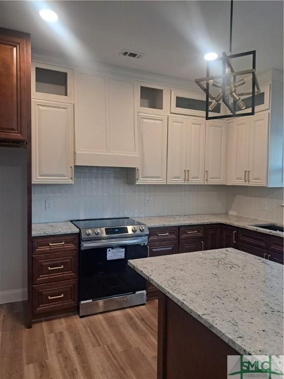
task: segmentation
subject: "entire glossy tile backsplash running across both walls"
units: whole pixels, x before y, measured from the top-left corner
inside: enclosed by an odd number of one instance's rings
[[[75,166],[74,184],[34,185],[33,222],[231,213],[283,222],[283,189],[130,185],[127,169]]]

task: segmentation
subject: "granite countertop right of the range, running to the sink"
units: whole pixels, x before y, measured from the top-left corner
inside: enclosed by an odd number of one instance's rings
[[[259,224],[276,224],[271,221],[250,219],[244,216],[229,215],[227,213],[209,214],[209,215],[188,215],[188,216],[153,216],[153,217],[135,217],[134,220],[146,224],[148,227],[173,227],[182,225],[198,224],[227,224],[233,227],[244,227],[246,229],[259,231],[261,233],[284,237],[281,231],[267,230],[252,225]]]

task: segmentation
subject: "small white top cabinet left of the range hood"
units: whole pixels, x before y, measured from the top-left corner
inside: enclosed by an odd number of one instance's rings
[[[32,62],[32,99],[73,103],[73,70]]]

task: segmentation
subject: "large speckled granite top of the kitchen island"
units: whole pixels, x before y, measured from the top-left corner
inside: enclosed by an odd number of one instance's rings
[[[283,354],[283,265],[232,248],[128,264],[240,354]]]

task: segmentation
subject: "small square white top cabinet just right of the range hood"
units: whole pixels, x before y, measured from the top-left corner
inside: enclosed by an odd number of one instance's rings
[[[170,113],[170,89],[166,86],[136,82],[135,100],[139,112],[163,115]]]

